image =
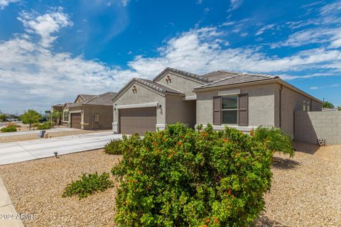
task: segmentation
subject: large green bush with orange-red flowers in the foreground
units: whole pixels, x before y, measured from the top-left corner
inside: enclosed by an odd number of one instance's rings
[[[264,209],[272,151],[249,135],[177,124],[122,147],[119,226],[248,226]]]

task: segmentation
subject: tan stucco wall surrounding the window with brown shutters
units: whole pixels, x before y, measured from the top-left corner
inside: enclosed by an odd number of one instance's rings
[[[240,93],[249,94],[249,126],[274,126],[274,84],[238,87]],[[227,91],[228,89],[220,89]],[[212,97],[220,90],[197,92],[197,124],[207,124],[213,121]]]

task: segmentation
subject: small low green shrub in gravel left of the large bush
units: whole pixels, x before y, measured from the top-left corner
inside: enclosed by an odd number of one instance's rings
[[[94,192],[104,192],[114,186],[109,177],[107,172],[102,175],[98,175],[97,172],[89,175],[83,173],[81,179],[67,185],[62,197],[78,195],[78,198],[82,199]]]

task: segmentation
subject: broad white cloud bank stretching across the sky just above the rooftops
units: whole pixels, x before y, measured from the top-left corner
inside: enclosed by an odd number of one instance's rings
[[[18,111],[45,109],[50,104],[72,101],[76,94],[85,92],[118,91],[132,77],[151,79],[165,67],[197,74],[215,70],[273,73],[283,79],[331,77],[341,72],[341,50],[320,47],[286,57],[266,55],[252,46],[229,46],[227,34],[220,31],[221,27],[195,28],[180,33],[158,48],[157,57],[137,55],[128,62],[127,69],[122,70],[98,60],[72,57],[69,52],[54,52],[50,47],[58,37],[56,33],[72,25],[63,11],[27,15],[20,16],[26,33],[0,43],[0,106],[12,111],[16,108]],[[37,34],[38,42],[34,39]],[[334,36],[330,35],[329,40],[331,37]],[[314,70],[319,73],[308,73]]]

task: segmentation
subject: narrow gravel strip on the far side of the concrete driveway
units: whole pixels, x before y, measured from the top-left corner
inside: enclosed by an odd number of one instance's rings
[[[79,135],[85,133],[99,133],[101,131],[91,131],[91,130],[72,130],[72,131],[59,131],[55,133],[48,133],[49,138],[60,137],[65,135]],[[38,138],[37,134],[39,130],[35,134],[27,134],[27,135],[12,135],[12,136],[4,136],[0,137],[0,143],[9,143],[9,142],[18,142],[25,140],[43,140],[43,138]]]

